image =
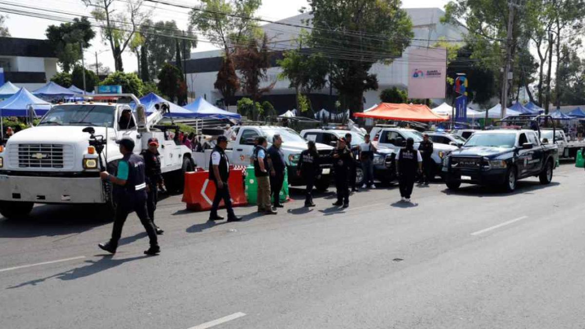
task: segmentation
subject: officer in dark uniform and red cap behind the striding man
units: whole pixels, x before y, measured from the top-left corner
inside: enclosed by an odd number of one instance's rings
[[[154,211],[159,198],[159,188],[164,190],[163,175],[160,172],[159,139],[150,138],[148,148],[142,152],[144,158],[144,172],[146,173],[146,208],[148,217],[154,224]],[[154,224],[156,234],[163,234],[163,229]]]

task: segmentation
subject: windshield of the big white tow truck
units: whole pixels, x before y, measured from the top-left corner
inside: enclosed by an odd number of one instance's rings
[[[57,105],[43,117],[39,125],[113,127],[115,107],[108,105]]]

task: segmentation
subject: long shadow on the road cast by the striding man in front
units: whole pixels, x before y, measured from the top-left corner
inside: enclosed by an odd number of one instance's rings
[[[116,266],[122,265],[123,263],[126,262],[136,261],[137,259],[143,259],[147,257],[152,256],[143,255],[130,258],[113,258],[113,255],[103,255],[102,258],[99,259],[98,261],[85,261],[85,263],[87,263],[87,265],[85,266],[80,266],[78,268],[70,269],[65,272],[57,273],[55,275],[43,277],[42,279],[35,279],[23,282],[16,286],[7,287],[6,289],[15,289],[23,286],[36,286],[39,283],[51,279],[51,277],[56,277],[57,279],[61,280],[75,280],[79,279],[80,277],[94,275],[95,273],[115,268]]]

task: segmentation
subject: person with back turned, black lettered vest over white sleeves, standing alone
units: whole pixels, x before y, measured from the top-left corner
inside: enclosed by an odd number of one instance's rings
[[[398,151],[397,159],[396,169],[400,183],[401,201],[410,202],[414,180],[417,177],[417,172],[422,169],[421,152],[414,149],[414,139],[408,138],[406,140],[406,147]]]

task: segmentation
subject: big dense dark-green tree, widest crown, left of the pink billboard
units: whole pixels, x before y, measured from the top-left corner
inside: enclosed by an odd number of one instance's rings
[[[331,83],[343,109],[363,110],[363,93],[378,87],[370,74],[378,62],[391,63],[410,44],[412,22],[400,0],[309,0],[311,44],[315,50],[335,52]],[[371,35],[376,35],[373,37]]]

